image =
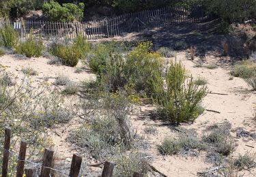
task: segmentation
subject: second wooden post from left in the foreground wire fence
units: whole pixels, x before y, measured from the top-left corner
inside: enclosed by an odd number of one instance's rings
[[[26,150],[27,150],[27,142],[25,140],[21,140],[20,152],[18,154],[18,165],[17,165],[16,177],[23,177]]]

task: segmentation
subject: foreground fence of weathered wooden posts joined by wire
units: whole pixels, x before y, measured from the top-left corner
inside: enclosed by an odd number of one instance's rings
[[[3,164],[2,164],[2,175],[1,177],[8,176],[8,162],[10,154],[16,155],[14,152],[10,151],[10,140],[11,140],[11,129],[5,128],[5,139],[3,146]],[[39,163],[33,163],[31,161],[26,160],[26,150],[27,150],[27,142],[25,140],[21,140],[20,142],[20,151],[19,154],[16,155],[18,157],[18,163],[16,166],[16,177],[23,177],[25,162],[31,163],[31,166],[25,167],[25,175],[26,177],[50,177],[51,171],[59,172],[61,176],[70,176],[70,177],[78,177],[79,171],[81,168],[82,157],[79,155],[73,155],[71,165],[70,165],[70,173],[66,174],[65,172],[61,172],[60,170],[52,168],[53,162],[53,153],[54,151],[51,148],[44,149],[44,157],[42,159],[42,165],[40,164],[41,170],[40,174],[38,173],[38,165]],[[104,167],[102,171],[102,177],[111,177],[113,175],[113,170],[115,168],[115,163],[111,163],[109,161],[104,162]],[[143,177],[144,174],[139,174],[137,172],[133,173],[133,177]]]

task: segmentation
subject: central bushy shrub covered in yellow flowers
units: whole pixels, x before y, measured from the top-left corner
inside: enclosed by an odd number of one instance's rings
[[[148,96],[155,96],[162,89],[162,59],[157,52],[150,52],[152,42],[142,42],[126,59],[124,75],[128,87]]]

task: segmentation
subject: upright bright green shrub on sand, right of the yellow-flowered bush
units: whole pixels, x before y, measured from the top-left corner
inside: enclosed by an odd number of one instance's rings
[[[171,123],[194,121],[201,113],[200,103],[207,93],[207,87],[197,86],[193,78],[186,76],[182,63],[171,62],[165,77],[167,88],[162,88],[155,102],[158,110]]]

